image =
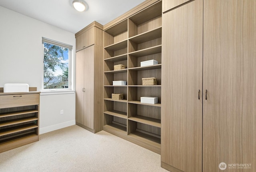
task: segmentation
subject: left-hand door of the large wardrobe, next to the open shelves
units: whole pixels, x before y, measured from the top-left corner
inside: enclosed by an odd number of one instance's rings
[[[202,0],[162,18],[162,167],[202,172]]]

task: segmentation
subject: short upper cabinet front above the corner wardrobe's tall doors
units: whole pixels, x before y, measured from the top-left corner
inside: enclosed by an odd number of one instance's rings
[[[94,44],[94,27],[76,37],[76,52]]]

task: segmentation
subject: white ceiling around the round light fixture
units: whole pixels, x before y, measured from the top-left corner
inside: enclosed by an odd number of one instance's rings
[[[0,6],[76,33],[93,21],[104,25],[145,0],[83,0],[84,12],[76,11],[73,0],[0,0]]]

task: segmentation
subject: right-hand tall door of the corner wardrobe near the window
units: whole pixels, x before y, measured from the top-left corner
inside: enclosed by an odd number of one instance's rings
[[[94,46],[84,51],[84,88],[84,125],[94,129]]]

